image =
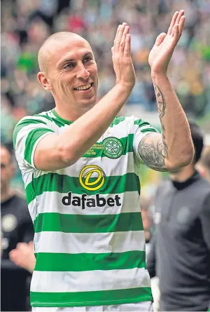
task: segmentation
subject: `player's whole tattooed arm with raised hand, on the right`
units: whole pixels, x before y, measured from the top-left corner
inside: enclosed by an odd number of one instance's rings
[[[139,155],[149,168],[158,171],[179,170],[193,159],[188,121],[167,77],[169,62],[181,37],[184,22],[183,10],[174,13],[167,34],[158,36],[148,57],[162,136],[146,135],[139,142]]]

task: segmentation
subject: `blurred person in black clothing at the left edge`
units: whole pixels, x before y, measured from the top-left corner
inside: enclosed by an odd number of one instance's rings
[[[1,311],[27,311],[27,277],[9,259],[9,252],[20,242],[34,238],[34,228],[25,199],[10,189],[14,165],[10,152],[1,146]]]

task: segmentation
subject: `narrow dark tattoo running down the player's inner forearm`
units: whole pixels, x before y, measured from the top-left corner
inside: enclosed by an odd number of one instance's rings
[[[165,115],[165,98],[162,94],[162,92],[160,91],[160,88],[154,84],[154,88],[155,88],[155,96],[156,96],[156,100],[157,100],[157,104],[158,104],[158,113],[159,113],[159,117],[160,117],[160,123],[161,123],[161,128],[162,128],[162,144],[163,147],[165,148],[165,154],[167,157],[168,155],[168,147],[167,147],[167,143],[165,142],[165,126],[162,123],[162,117]]]

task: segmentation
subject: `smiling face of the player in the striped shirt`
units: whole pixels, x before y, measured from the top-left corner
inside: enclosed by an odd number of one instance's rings
[[[51,41],[45,52],[47,71],[38,74],[38,81],[52,92],[59,107],[64,104],[82,111],[93,107],[97,101],[98,76],[90,44],[78,35],[69,35]]]

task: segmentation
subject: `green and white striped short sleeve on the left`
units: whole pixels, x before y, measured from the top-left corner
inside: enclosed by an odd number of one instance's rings
[[[34,151],[38,142],[46,135],[54,133],[45,118],[27,116],[15,126],[13,132],[13,146],[15,156],[20,165],[36,168],[34,165]]]

